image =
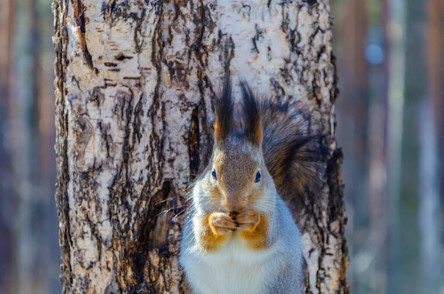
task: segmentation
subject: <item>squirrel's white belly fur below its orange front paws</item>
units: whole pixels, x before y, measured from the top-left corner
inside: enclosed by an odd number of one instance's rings
[[[202,294],[257,294],[264,293],[270,273],[266,264],[270,262],[272,248],[251,251],[238,239],[233,238],[221,249],[211,253],[196,251],[188,263],[189,276],[199,281],[189,281],[197,293]]]

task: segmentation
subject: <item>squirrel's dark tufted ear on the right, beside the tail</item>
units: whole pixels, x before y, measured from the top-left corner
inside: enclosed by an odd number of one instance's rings
[[[243,113],[245,116],[245,131],[253,145],[262,145],[262,120],[255,95],[245,81],[240,81],[243,96]]]

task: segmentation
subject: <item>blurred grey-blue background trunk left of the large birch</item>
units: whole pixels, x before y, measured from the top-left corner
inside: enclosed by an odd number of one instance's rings
[[[9,293],[48,293],[48,268],[50,264],[45,249],[48,240],[43,213],[49,200],[44,194],[42,177],[43,162],[39,157],[41,129],[39,120],[39,91],[42,88],[37,77],[42,74],[39,55],[41,52],[39,29],[40,15],[36,1],[13,1],[11,10],[10,46],[11,58],[9,91],[6,97],[8,120],[7,139],[11,159],[11,210],[12,232],[11,290]],[[7,209],[7,208],[6,208]],[[48,211],[48,210],[46,210]],[[44,240],[44,241],[43,241]],[[30,245],[32,244],[32,246]],[[44,270],[38,270],[44,268]]]

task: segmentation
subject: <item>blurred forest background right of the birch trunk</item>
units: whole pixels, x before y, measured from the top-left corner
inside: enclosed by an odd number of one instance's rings
[[[351,293],[443,293],[443,0],[332,1]]]

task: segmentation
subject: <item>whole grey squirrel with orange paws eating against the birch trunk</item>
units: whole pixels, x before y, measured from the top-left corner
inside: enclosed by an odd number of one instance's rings
[[[316,186],[322,152],[304,135],[301,113],[268,98],[258,103],[245,81],[240,90],[236,116],[226,75],[211,159],[190,192],[179,264],[196,294],[301,294],[301,233],[279,193],[301,198]]]

